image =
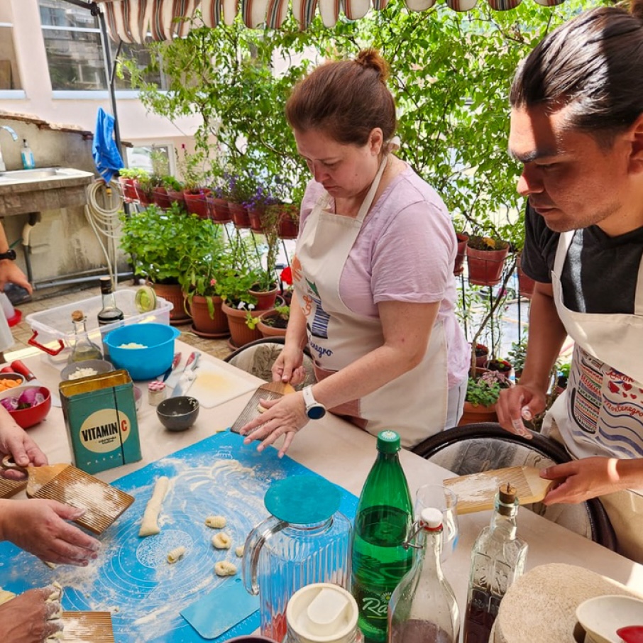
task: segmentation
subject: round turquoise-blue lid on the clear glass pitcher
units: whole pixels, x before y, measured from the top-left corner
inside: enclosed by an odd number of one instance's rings
[[[338,509],[341,492],[333,483],[317,476],[293,476],[277,480],[265,493],[265,508],[290,524],[317,524]]]

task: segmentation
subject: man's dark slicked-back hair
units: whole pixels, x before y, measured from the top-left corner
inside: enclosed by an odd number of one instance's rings
[[[603,145],[643,113],[643,0],[600,7],[552,31],[522,62],[512,107],[568,108],[568,126]]]

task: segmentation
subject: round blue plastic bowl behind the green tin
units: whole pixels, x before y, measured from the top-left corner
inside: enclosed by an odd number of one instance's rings
[[[167,324],[130,324],[111,331],[104,342],[115,368],[125,368],[133,380],[153,380],[172,365],[174,341],[179,335]],[[119,348],[133,342],[145,348]]]

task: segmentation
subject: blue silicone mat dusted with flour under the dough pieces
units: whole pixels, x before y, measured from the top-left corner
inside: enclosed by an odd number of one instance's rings
[[[273,480],[302,474],[316,476],[291,458],[277,457],[272,447],[262,453],[243,436],[215,434],[175,454],[128,474],[114,485],[131,493],[135,502],[101,536],[99,558],[87,568],[50,569],[10,543],[0,543],[0,587],[12,592],[57,581],[65,588],[65,610],[109,611],[117,643],[193,643],[197,634],[180,611],[221,583],[241,578],[241,559],[234,549],[251,529],[268,516],[263,496]],[[160,513],[160,534],[138,537],[145,505],[158,476],[172,480]],[[339,510],[353,520],[357,498],[341,489]],[[204,520],[225,516],[231,549],[214,549]],[[167,564],[167,552],[185,546],[183,559]],[[220,578],[214,564],[229,560],[235,577]],[[221,634],[223,642],[259,627],[259,613]]]

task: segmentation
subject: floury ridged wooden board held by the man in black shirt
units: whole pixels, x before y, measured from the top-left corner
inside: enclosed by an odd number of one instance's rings
[[[498,488],[507,483],[516,489],[519,504],[528,505],[530,502],[540,502],[554,480],[544,480],[539,476],[539,469],[532,466],[493,469],[444,480],[444,486],[458,496],[458,514],[493,509]]]

